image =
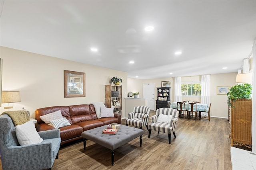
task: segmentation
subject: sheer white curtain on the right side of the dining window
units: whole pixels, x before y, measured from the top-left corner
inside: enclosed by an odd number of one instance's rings
[[[202,75],[201,103],[210,105],[210,75]]]

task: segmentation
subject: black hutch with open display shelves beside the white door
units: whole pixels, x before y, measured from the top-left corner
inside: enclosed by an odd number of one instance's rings
[[[156,109],[168,107],[168,102],[170,102],[170,90],[170,87],[157,88]]]

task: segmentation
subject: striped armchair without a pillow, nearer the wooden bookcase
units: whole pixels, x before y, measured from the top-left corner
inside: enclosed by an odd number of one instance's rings
[[[126,126],[133,125],[135,127],[146,126],[148,129],[150,107],[148,106],[136,106],[133,108],[133,112],[128,113],[128,119],[126,119]]]

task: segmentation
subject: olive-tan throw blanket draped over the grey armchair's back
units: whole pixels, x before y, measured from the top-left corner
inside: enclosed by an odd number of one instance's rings
[[[30,121],[28,112],[24,110],[4,111],[2,114],[8,115],[12,119],[14,126],[22,125],[23,123]]]

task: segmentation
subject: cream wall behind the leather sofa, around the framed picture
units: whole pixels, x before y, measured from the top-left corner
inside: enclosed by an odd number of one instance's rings
[[[21,102],[14,103],[14,110],[24,107],[31,117],[42,107],[105,103],[105,84],[110,84],[113,76],[122,78],[122,95],[127,94],[126,72],[6,47],[0,47],[0,57],[3,59],[2,90],[20,91]],[[86,73],[86,97],[64,98],[64,70]],[[4,111],[3,105],[0,113]],[[124,102],[122,106],[124,112]]]

